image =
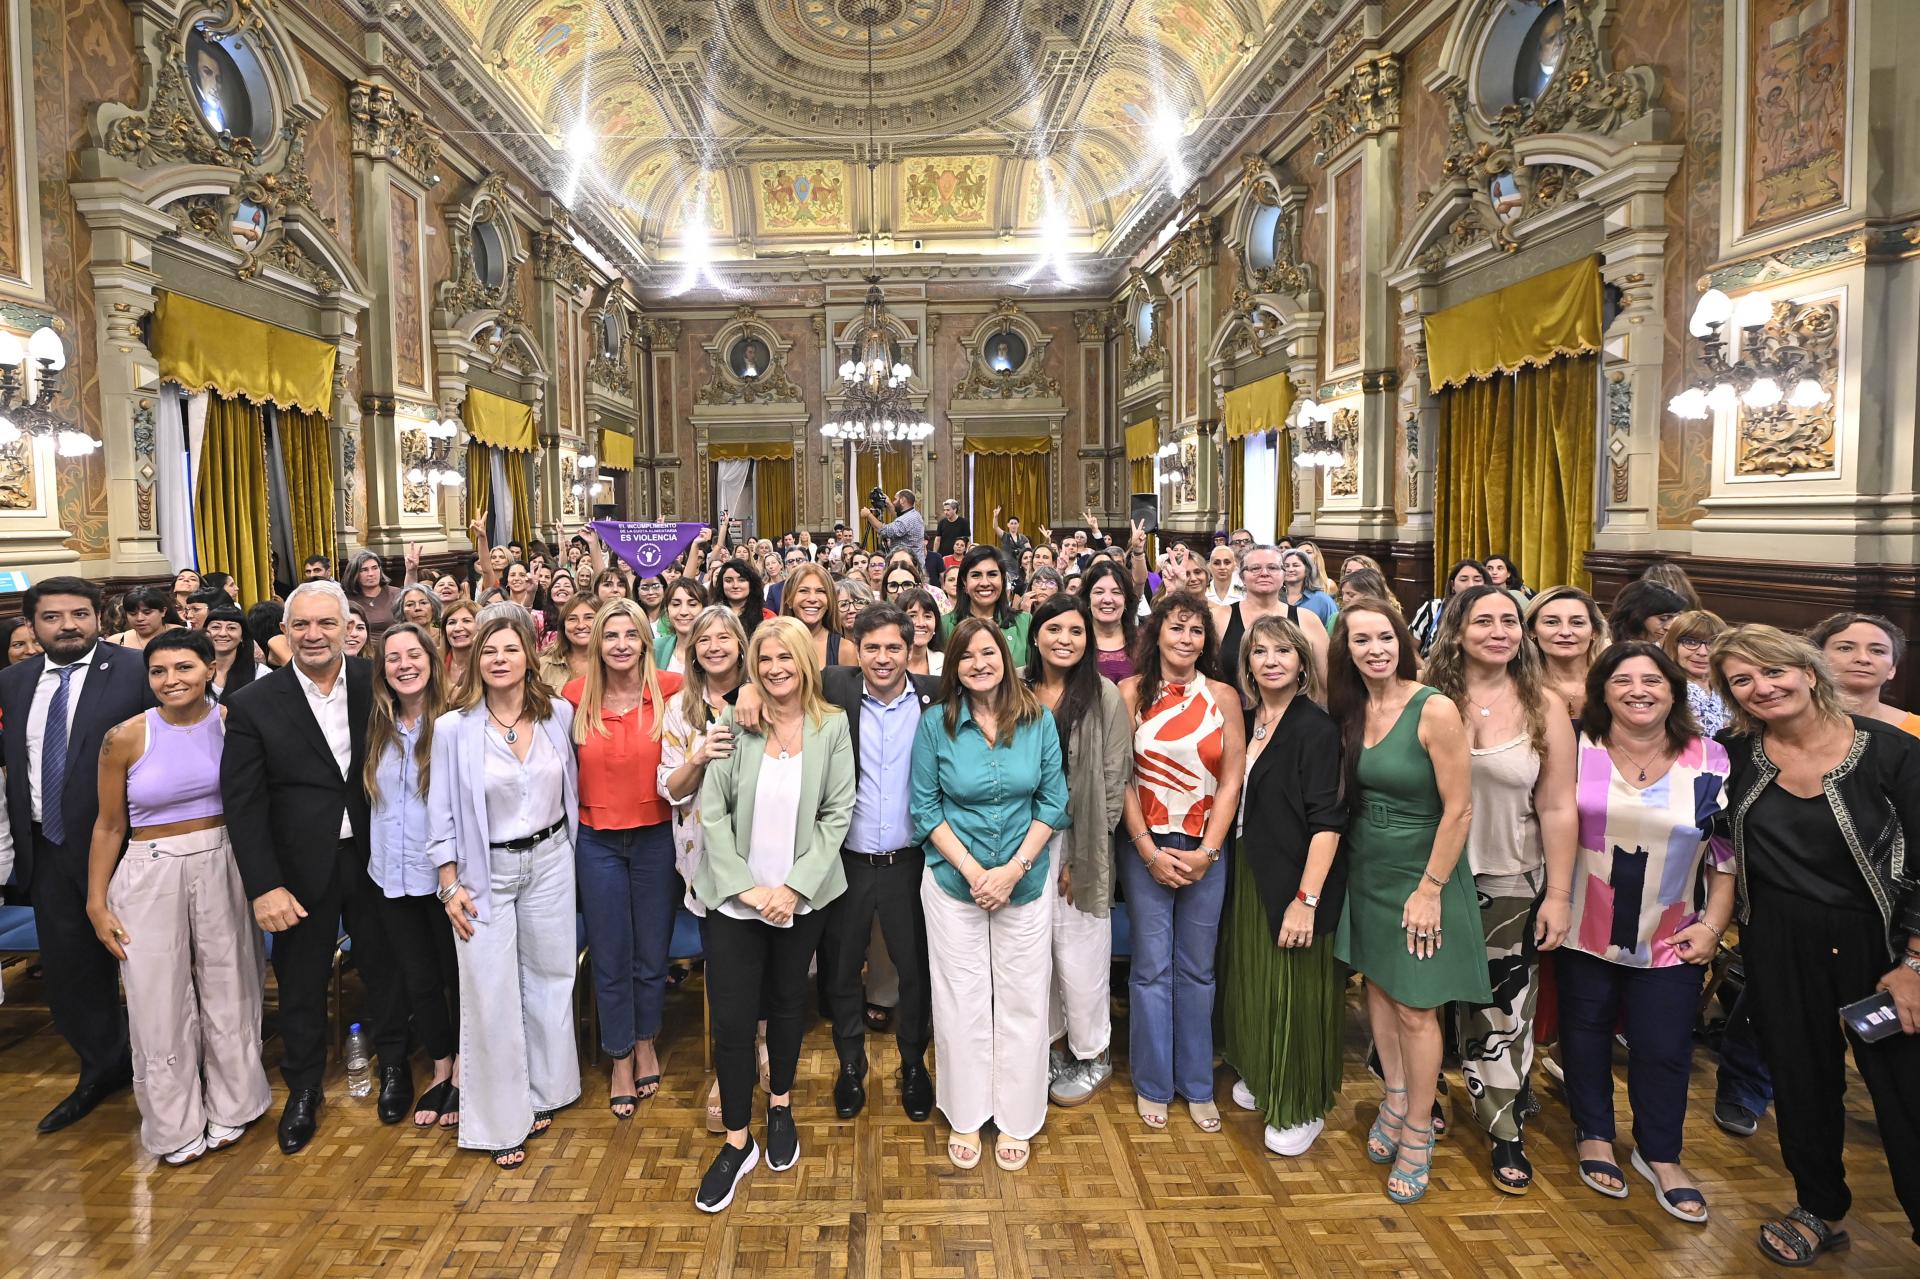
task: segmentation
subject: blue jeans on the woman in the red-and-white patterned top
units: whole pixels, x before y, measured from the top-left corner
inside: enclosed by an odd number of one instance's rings
[[[1162,849],[1192,851],[1188,835],[1154,835]],[[1127,976],[1127,1052],[1133,1091],[1154,1102],[1213,1100],[1213,947],[1227,899],[1227,862],[1169,889],[1139,853],[1119,857],[1133,922]]]

